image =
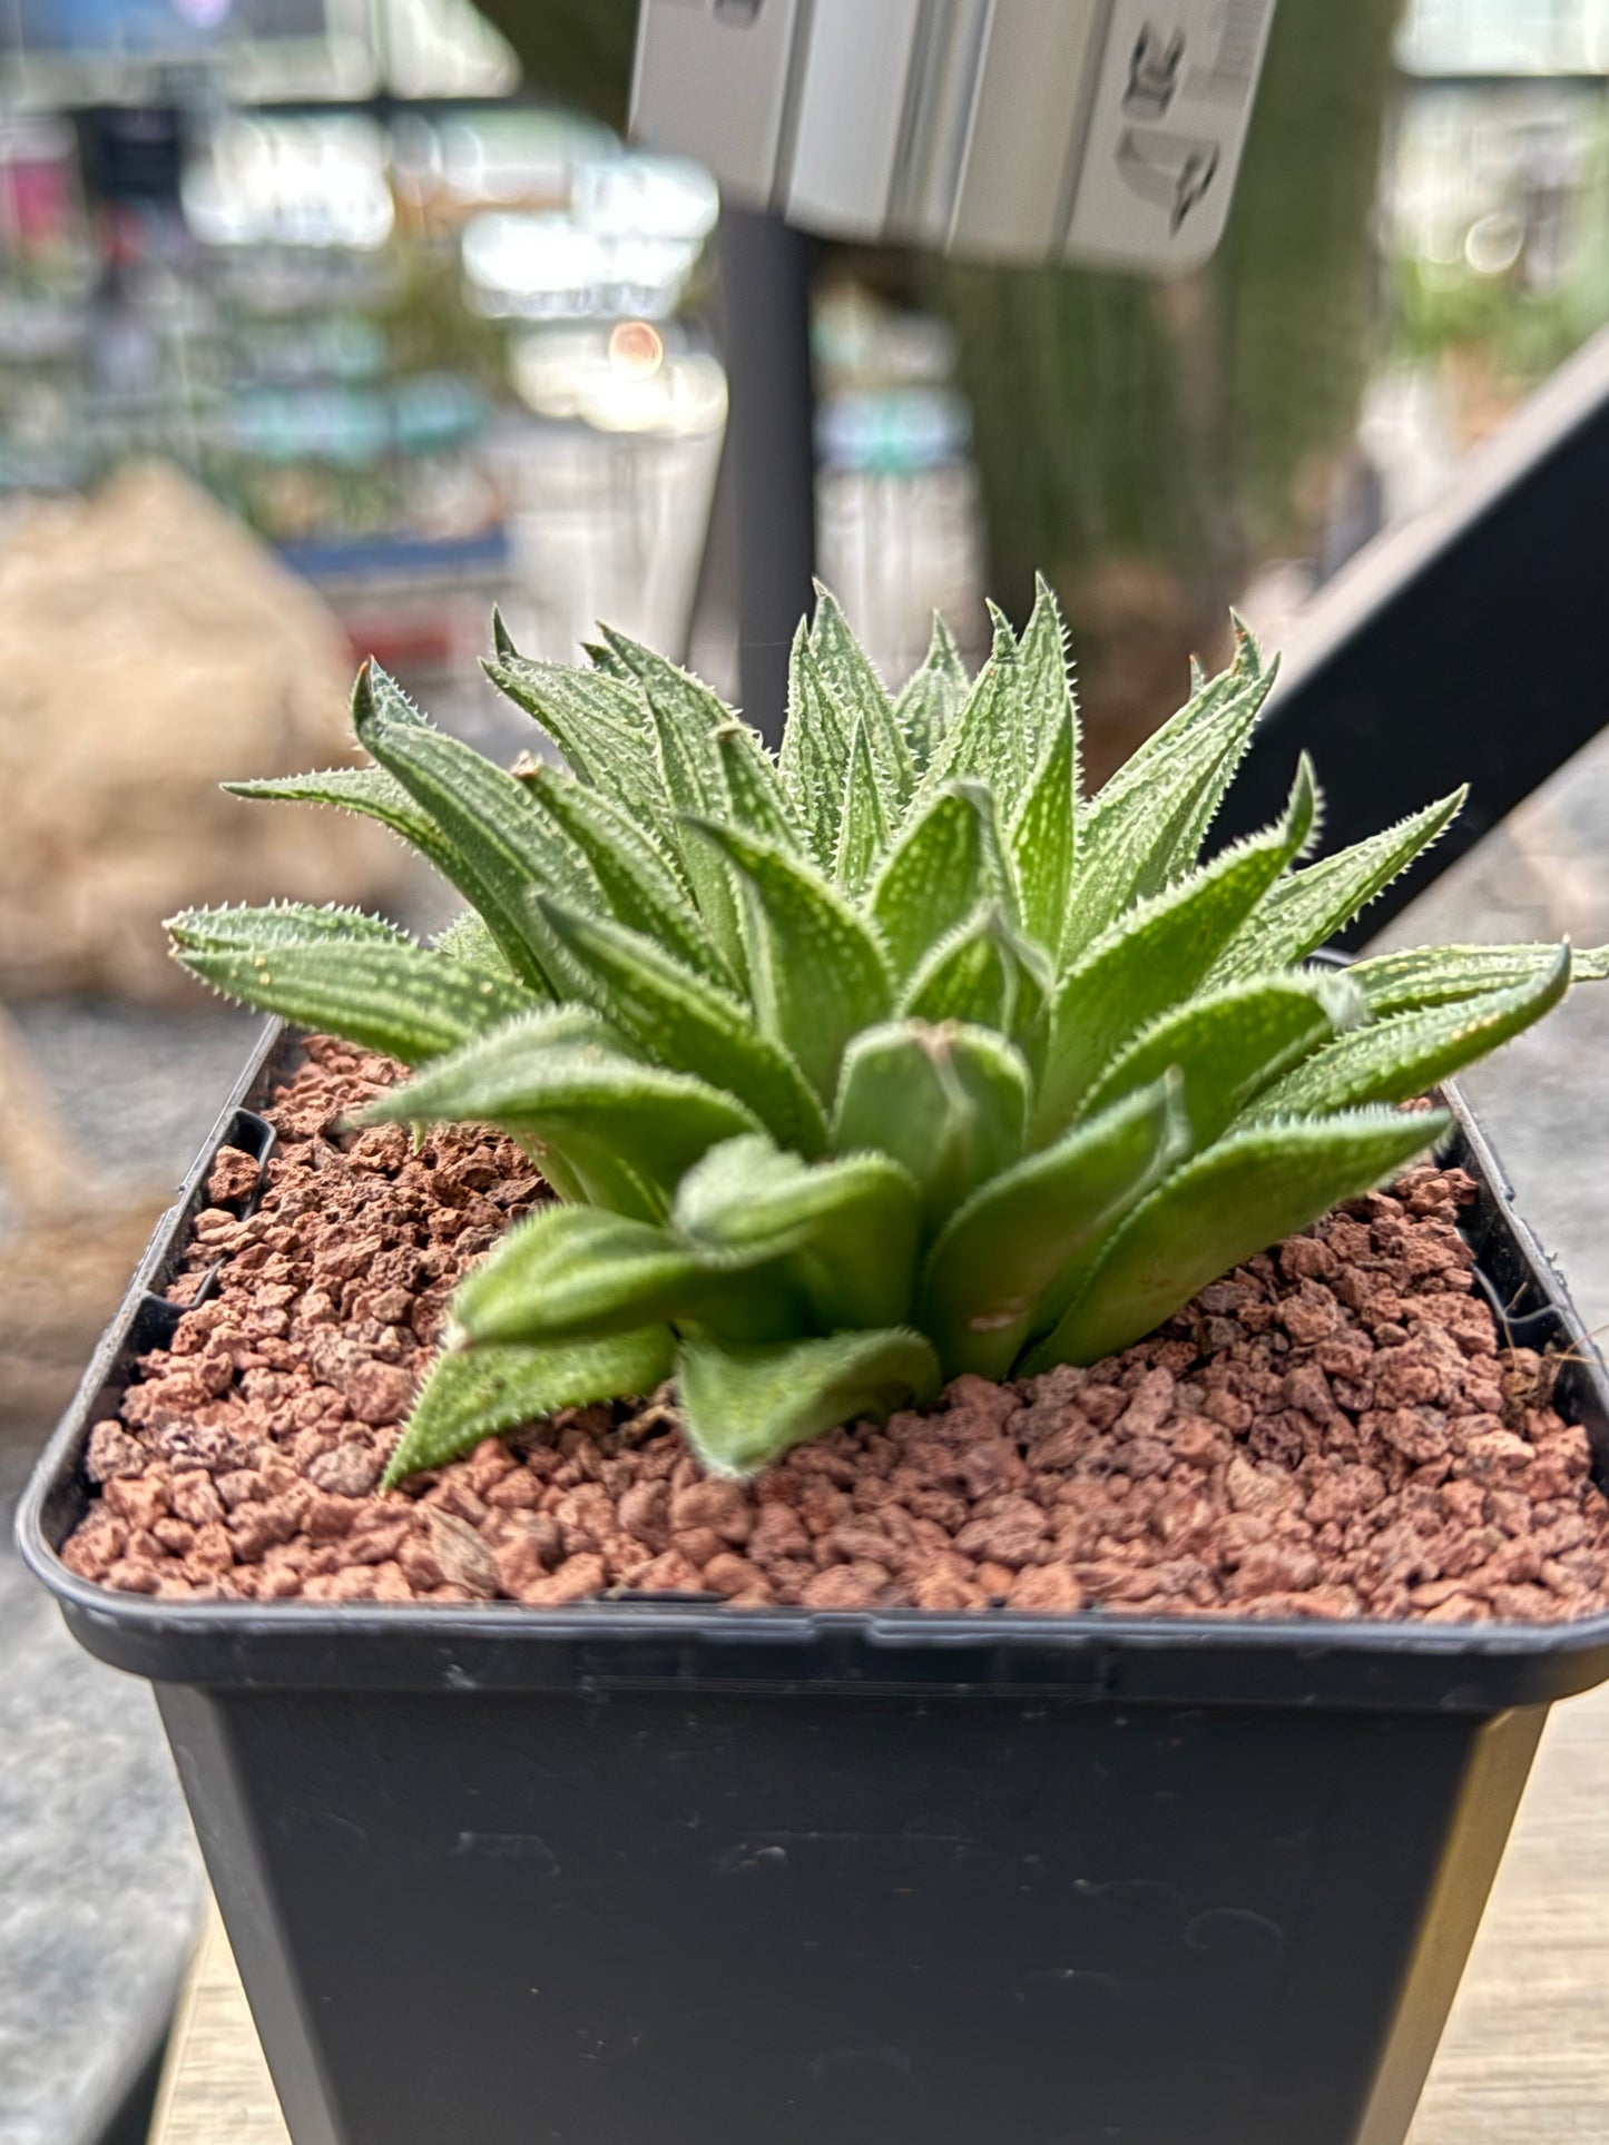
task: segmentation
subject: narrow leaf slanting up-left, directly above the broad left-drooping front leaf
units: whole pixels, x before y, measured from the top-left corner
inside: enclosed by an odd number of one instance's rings
[[[822,1152],[822,1105],[783,1045],[759,1034],[749,1006],[637,931],[553,901],[541,907],[575,963],[586,1000],[646,1055],[729,1092],[787,1145]]]

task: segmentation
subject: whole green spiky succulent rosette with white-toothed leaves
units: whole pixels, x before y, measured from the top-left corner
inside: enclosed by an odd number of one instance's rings
[[[436,946],[339,909],[187,914],[219,989],[414,1066],[369,1122],[489,1120],[558,1199],[461,1283],[390,1480],[676,1375],[753,1471],[946,1377],[1092,1362],[1446,1128],[1403,1111],[1605,952],[1309,965],[1463,794],[1302,864],[1201,849],[1272,684],[1251,633],[1092,798],[1056,601],[895,697],[822,592],[772,757],[618,633],[493,682],[566,768],[504,772],[373,665],[371,766],[242,783],[367,813],[472,903]]]

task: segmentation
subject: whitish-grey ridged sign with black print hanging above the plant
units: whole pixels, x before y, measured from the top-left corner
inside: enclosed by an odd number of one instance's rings
[[[830,238],[1204,262],[1274,0],[644,0],[633,133]]]

